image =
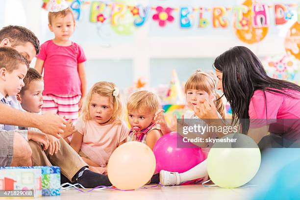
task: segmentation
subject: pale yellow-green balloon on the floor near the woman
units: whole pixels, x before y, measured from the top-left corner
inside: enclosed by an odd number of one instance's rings
[[[207,172],[218,186],[236,188],[249,182],[257,173],[261,161],[260,150],[247,135],[236,133],[223,138],[237,138],[237,141],[213,145],[207,157]]]

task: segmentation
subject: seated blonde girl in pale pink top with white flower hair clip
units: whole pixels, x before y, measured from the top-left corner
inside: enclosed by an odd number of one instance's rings
[[[124,107],[114,83],[100,81],[89,91],[82,116],[75,122],[77,132],[71,147],[90,166],[106,174],[111,153],[125,142],[128,127],[123,121]]]

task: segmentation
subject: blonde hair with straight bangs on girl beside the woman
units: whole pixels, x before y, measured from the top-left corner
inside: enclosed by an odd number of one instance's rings
[[[216,92],[216,79],[217,76],[212,72],[196,72],[189,77],[184,86],[184,93],[187,94],[188,90],[202,90],[207,92],[209,95],[215,94],[216,100],[214,101],[217,111],[220,113],[223,119],[226,118],[225,104],[220,98],[219,93]]]

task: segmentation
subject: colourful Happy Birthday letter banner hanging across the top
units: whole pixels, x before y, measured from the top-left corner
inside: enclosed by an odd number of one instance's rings
[[[49,0],[43,0],[42,7],[47,9]],[[167,7],[126,5],[125,0],[103,2],[89,0],[67,0],[74,11],[75,19],[80,20],[84,6],[89,7],[89,21],[97,25],[110,25],[118,34],[130,35],[138,27],[150,20],[159,27],[167,27],[178,18],[180,28],[197,26],[204,29],[208,25],[213,28],[227,28],[233,24],[236,36],[245,43],[260,42],[268,33],[270,25],[284,25],[292,18],[298,19],[300,25],[300,4],[276,3],[264,4],[246,0],[234,7]],[[86,10],[86,9],[85,9]],[[231,13],[230,13],[231,12]],[[271,12],[274,15],[271,15]],[[232,14],[231,21],[229,14]],[[294,17],[294,15],[297,15]],[[274,16],[274,17],[273,17]],[[293,39],[294,40],[294,39]],[[296,38],[296,44],[300,43]]]

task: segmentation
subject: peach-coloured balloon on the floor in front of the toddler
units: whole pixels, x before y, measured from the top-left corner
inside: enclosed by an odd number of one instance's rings
[[[154,174],[155,157],[141,142],[127,142],[111,154],[107,164],[110,182],[123,190],[134,190],[145,185]]]

